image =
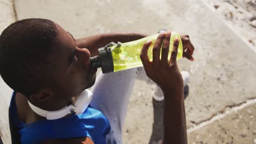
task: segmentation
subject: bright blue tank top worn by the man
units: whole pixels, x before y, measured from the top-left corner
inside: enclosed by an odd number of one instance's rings
[[[90,137],[95,144],[106,143],[105,137],[110,131],[110,125],[102,112],[89,106],[79,115],[25,124],[18,121],[15,95],[14,91],[10,102],[10,114],[18,128],[21,143],[40,143],[44,140],[74,137]]]

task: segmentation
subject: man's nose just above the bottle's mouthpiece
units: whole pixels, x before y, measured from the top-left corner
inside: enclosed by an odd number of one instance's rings
[[[77,56],[78,61],[82,62],[83,67],[88,67],[88,65],[90,65],[90,51],[88,49],[80,49],[77,47],[75,56]]]

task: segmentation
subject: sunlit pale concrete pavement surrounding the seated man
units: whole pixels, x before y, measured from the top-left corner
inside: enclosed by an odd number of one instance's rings
[[[179,69],[189,71],[191,77],[185,107],[187,128],[196,130],[190,130],[189,143],[231,143],[230,136],[233,143],[253,142],[255,135],[252,131],[243,132],[241,139],[245,141],[242,141],[236,133],[239,129],[231,127],[230,123],[236,123],[240,130],[248,127],[243,124],[245,121],[253,123],[255,120],[246,112],[255,111],[254,103],[198,128],[227,108],[234,109],[247,103],[248,99],[256,98],[256,48],[243,40],[203,1],[0,0],[0,11],[0,32],[15,20],[39,17],[59,23],[75,38],[110,32],[154,34],[160,28],[189,34],[195,46],[195,61],[182,59],[178,62]],[[3,99],[0,101],[0,134],[4,143],[10,143],[7,110],[11,89],[2,79],[0,86]],[[154,87],[136,81],[123,129],[124,143],[158,143],[161,139],[162,103],[152,100]],[[235,115],[245,118],[237,122],[229,118]],[[214,133],[217,130],[218,133]],[[231,132],[222,136],[225,131]],[[223,142],[219,141],[219,135]]]

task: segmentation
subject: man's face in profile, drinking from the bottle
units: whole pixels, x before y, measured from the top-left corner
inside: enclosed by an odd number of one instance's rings
[[[56,65],[52,90],[56,99],[64,100],[94,85],[97,69],[91,69],[89,50],[75,46],[73,36],[61,26],[56,26],[56,43],[50,56]]]

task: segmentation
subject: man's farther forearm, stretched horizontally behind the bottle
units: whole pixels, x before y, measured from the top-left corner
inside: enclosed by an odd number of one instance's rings
[[[137,40],[147,37],[146,34],[138,33],[110,33],[110,34],[98,34],[91,37],[75,40],[77,47],[86,48],[91,52],[91,56],[98,55],[98,49],[106,46],[107,44],[114,42],[125,43],[127,41]]]

